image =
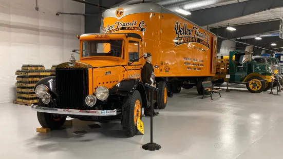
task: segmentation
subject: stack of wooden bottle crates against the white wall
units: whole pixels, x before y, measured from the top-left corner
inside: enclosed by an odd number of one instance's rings
[[[34,86],[42,78],[50,76],[50,70],[45,70],[43,65],[23,65],[21,70],[17,70],[16,73],[16,91],[17,98],[14,103],[21,105],[37,104],[39,98],[36,97],[33,91]]]

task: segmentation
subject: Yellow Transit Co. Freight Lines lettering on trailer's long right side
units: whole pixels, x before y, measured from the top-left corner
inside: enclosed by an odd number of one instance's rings
[[[179,46],[186,43],[199,43],[210,49],[210,34],[199,31],[199,28],[187,28],[187,24],[184,23],[181,27],[181,22],[175,23],[175,46]]]

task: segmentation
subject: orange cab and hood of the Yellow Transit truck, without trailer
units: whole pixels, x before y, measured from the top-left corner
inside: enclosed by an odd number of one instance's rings
[[[34,87],[40,102],[32,109],[40,124],[58,129],[67,116],[97,122],[121,118],[125,135],[136,135],[142,107],[148,107],[141,81],[142,38],[135,33],[78,38],[80,59],[71,53],[70,62],[57,66],[55,77],[44,78]]]

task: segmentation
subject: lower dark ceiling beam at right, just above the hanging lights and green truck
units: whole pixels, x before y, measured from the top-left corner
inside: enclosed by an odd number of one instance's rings
[[[239,38],[249,35],[256,35],[260,33],[276,31],[279,29],[279,21],[270,21],[262,23],[253,23],[246,25],[237,25],[233,26],[235,31],[227,30],[226,27],[210,29],[211,32],[215,33],[218,36],[232,39]]]

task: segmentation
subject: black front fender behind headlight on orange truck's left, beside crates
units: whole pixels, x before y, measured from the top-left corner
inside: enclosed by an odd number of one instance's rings
[[[34,86],[33,90],[35,91],[35,88],[39,85],[47,86],[49,89],[48,93],[52,96],[52,98],[56,97],[56,77],[51,76],[41,79],[41,81],[37,82]]]

